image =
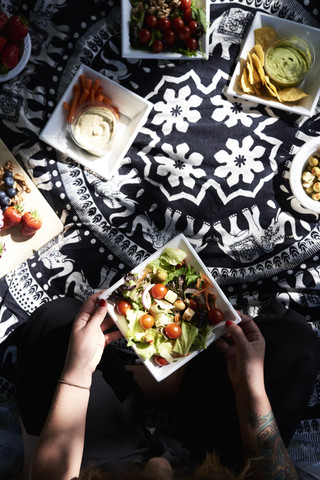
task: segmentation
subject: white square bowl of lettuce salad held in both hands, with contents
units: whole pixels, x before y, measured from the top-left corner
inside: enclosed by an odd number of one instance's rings
[[[183,234],[101,298],[128,346],[162,381],[221,337],[240,316]]]

